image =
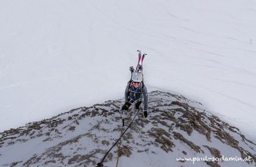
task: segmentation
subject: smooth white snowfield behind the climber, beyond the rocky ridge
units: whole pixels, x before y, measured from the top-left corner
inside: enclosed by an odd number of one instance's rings
[[[0,131],[148,91],[202,102],[254,143],[256,1],[0,1]]]

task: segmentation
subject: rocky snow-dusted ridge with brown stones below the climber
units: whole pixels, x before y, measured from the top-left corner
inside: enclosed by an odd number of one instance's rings
[[[120,167],[255,166],[256,145],[236,127],[200,110],[205,108],[199,102],[159,91],[148,97],[148,118],[142,112],[135,117],[132,107],[121,115],[123,99],[109,100],[0,133],[0,166],[96,166],[120,136],[121,118],[125,130],[134,117],[122,138]],[[104,166],[115,166],[117,150],[115,145]],[[210,160],[222,156],[234,160]],[[176,160],[197,157],[202,160]],[[241,157],[250,161],[235,161]]]

